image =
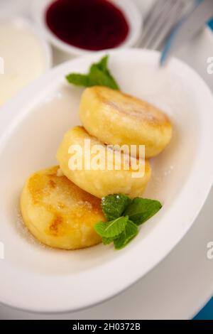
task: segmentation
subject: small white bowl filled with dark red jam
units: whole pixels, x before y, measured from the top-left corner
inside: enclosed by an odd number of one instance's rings
[[[32,11],[49,41],[71,55],[131,47],[142,33],[131,0],[37,0]]]

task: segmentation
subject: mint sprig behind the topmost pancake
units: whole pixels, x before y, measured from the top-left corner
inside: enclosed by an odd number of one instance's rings
[[[107,68],[108,60],[109,55],[105,55],[98,63],[90,66],[87,74],[70,73],[66,75],[66,79],[70,84],[76,86],[106,86],[112,90],[119,90],[119,85]]]

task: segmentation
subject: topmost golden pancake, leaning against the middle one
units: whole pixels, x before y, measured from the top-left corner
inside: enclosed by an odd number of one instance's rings
[[[108,87],[84,90],[80,119],[105,144],[145,145],[146,158],[160,153],[172,136],[170,121],[158,108]]]

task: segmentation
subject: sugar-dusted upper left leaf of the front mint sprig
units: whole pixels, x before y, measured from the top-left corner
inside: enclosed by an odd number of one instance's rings
[[[102,210],[107,220],[114,220],[121,217],[130,203],[131,199],[124,194],[108,195],[102,198]]]

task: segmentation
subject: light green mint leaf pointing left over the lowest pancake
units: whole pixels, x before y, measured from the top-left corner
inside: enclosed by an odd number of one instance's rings
[[[111,222],[98,222],[94,225],[94,230],[101,236],[106,238],[114,238],[124,231],[128,217],[119,217]]]

